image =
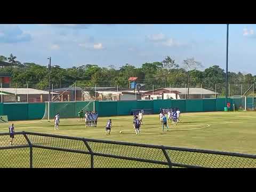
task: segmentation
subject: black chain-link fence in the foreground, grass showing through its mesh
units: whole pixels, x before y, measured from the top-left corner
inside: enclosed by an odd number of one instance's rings
[[[256,155],[17,132],[0,133],[0,167],[256,167]]]

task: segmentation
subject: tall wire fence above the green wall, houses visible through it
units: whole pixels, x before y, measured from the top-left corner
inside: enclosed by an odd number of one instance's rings
[[[45,101],[117,101],[117,100],[150,100],[150,99],[205,99],[225,98],[226,84],[224,82],[197,82],[187,84],[180,82],[161,83],[138,82],[136,88],[127,85],[108,84],[106,82],[74,81],[66,84],[51,84],[46,87],[39,83],[11,83],[10,87],[1,87],[1,102],[45,102]],[[138,88],[138,89],[137,89]],[[233,95],[254,96],[255,86],[247,82],[229,82],[228,97]],[[49,94],[50,92],[50,94]]]

